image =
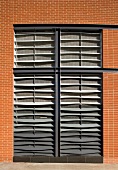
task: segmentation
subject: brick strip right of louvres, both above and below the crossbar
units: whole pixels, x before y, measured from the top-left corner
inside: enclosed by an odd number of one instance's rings
[[[118,68],[118,30],[103,30],[103,67]],[[118,73],[103,74],[104,162],[118,163]]]

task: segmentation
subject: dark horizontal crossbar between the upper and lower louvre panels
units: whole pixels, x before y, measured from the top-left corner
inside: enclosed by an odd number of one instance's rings
[[[104,73],[104,72],[112,72],[118,73],[117,68],[56,68],[56,72],[61,73]],[[14,74],[48,74],[54,73],[55,68],[14,68]]]

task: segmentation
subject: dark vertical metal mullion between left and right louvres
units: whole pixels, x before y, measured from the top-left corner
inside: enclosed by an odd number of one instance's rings
[[[60,47],[59,30],[55,29],[55,157],[60,155]]]

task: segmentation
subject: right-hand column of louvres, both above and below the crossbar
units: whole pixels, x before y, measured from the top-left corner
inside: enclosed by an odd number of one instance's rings
[[[100,33],[61,32],[61,66],[101,67]],[[61,74],[61,156],[101,155],[101,75]]]

